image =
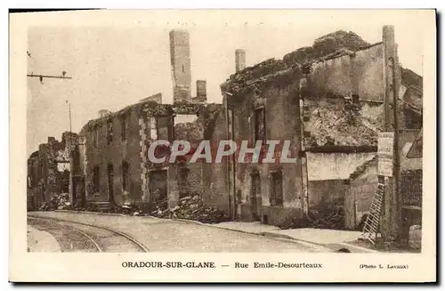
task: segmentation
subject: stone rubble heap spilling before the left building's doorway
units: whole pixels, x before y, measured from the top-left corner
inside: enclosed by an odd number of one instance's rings
[[[203,223],[218,223],[230,220],[223,211],[204,206],[198,195],[181,198],[174,208],[164,210],[158,208],[150,214],[160,218],[182,218]]]

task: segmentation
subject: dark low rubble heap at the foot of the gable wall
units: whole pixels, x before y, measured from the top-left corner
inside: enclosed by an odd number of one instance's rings
[[[311,209],[307,216],[292,217],[281,223],[279,228],[281,230],[302,228],[344,230],[344,211],[341,207]]]

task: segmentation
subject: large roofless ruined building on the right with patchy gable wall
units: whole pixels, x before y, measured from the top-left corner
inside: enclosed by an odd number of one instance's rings
[[[391,38],[392,39],[388,39]],[[344,208],[344,181],[376,156],[384,130],[384,56],[393,35],[368,44],[352,32],[322,36],[311,47],[239,69],[221,85],[229,139],[290,141],[295,164],[234,159],[224,174],[233,217],[279,225],[312,210]],[[399,126],[422,126],[422,77],[396,70]],[[219,123],[219,122],[218,122]],[[212,180],[212,179],[210,179]]]

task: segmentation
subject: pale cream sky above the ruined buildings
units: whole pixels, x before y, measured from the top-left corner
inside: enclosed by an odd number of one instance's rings
[[[373,20],[324,21],[323,24],[182,26],[190,32],[192,95],[195,82],[207,82],[208,102],[221,102],[220,85],[235,72],[235,50],[246,51],[247,66],[285,54],[339,29],[373,44],[382,41],[382,26]],[[422,31],[416,21],[393,23],[401,65],[422,75]],[[41,26],[28,28],[28,73],[72,79],[28,78],[28,155],[48,136],[61,140],[79,132],[100,109],[116,111],[155,93],[173,101],[169,52],[170,28],[164,26]]]

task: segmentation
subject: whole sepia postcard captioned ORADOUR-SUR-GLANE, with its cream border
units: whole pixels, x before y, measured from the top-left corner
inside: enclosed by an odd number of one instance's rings
[[[10,280],[434,282],[435,19],[11,14]]]

